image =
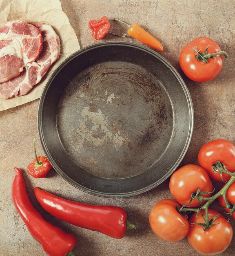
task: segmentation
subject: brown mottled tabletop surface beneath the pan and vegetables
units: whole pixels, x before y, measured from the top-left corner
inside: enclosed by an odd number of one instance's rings
[[[141,0],[62,0],[62,8],[75,29],[81,47],[97,43],[91,37],[88,28],[90,19],[99,19],[106,15],[110,19],[120,18],[126,22],[139,22],[144,28],[157,36],[163,43],[164,56],[180,72],[188,89],[195,109],[195,129],[191,146],[183,164],[197,164],[197,153],[205,142],[224,138],[235,142],[234,137],[234,40],[235,40],[235,2],[224,1],[141,1]],[[210,10],[210,11],[208,11]],[[117,27],[111,23],[114,32]],[[123,27],[123,31],[125,28]],[[219,43],[229,58],[224,61],[222,72],[216,79],[207,83],[194,83],[180,70],[178,56],[183,45],[198,36],[208,36]],[[129,40],[107,35],[105,40]],[[26,170],[33,159],[33,137],[38,141],[38,154],[43,155],[37,131],[38,100],[17,108],[0,112],[0,254],[45,255],[20,219],[11,202],[11,182],[13,167]],[[36,180],[24,173],[29,196],[35,207],[46,220],[71,231],[78,237],[74,249],[76,255],[87,256],[188,256],[200,255],[195,252],[186,239],[177,243],[166,243],[158,239],[149,227],[149,212],[153,205],[163,199],[171,198],[168,180],[157,188],[131,198],[107,199],[82,193],[65,182],[55,171],[50,171],[46,179]],[[93,231],[80,229],[66,224],[46,213],[36,202],[33,188],[39,186],[59,196],[89,204],[110,204],[121,206],[129,214],[137,229],[128,231],[125,238],[115,240]],[[218,188],[219,184],[215,184]],[[217,208],[217,203],[213,206]],[[235,227],[235,221],[232,222]],[[220,254],[233,255],[235,239]]]

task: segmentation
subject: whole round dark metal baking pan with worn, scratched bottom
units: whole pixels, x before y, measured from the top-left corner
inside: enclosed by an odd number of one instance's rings
[[[193,104],[175,68],[134,43],[97,43],[53,72],[38,131],[53,168],[78,189],[127,197],[152,189],[182,161]]]

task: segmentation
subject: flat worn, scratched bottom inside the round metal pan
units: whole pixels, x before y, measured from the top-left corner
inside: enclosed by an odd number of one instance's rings
[[[144,173],[164,153],[173,106],[160,81],[143,67],[97,63],[67,85],[57,127],[74,164],[99,177],[126,178]]]

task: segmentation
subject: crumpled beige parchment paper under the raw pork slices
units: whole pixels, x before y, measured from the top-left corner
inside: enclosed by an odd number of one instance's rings
[[[73,52],[80,49],[78,38],[62,11],[59,0],[0,0],[0,25],[8,20],[48,23],[60,37],[61,52],[56,61],[38,85],[26,95],[11,99],[0,98],[0,111],[13,108],[40,98],[48,78],[58,65]]]

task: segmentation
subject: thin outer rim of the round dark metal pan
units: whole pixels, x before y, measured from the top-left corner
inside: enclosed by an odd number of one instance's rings
[[[156,182],[151,183],[149,186],[146,186],[146,187],[141,188],[139,190],[135,190],[135,191],[131,191],[131,192],[125,192],[125,193],[109,193],[109,192],[105,192],[104,193],[104,192],[100,192],[100,191],[95,191],[93,189],[89,189],[87,187],[82,186],[81,184],[77,184],[74,180],[72,180],[70,177],[68,177],[60,169],[60,167],[55,163],[54,159],[51,157],[51,154],[50,154],[50,152],[49,152],[49,150],[47,148],[46,141],[44,140],[43,129],[42,129],[42,108],[43,108],[45,97],[47,95],[47,91],[48,91],[48,89],[50,87],[51,82],[55,78],[55,76],[57,76],[57,74],[60,72],[60,70],[62,70],[62,68],[65,65],[67,65],[67,63],[72,61],[78,55],[82,54],[85,51],[88,51],[89,49],[94,49],[96,47],[102,47],[102,46],[105,46],[105,45],[126,45],[126,46],[130,46],[130,47],[135,47],[135,48],[141,49],[141,50],[143,50],[145,52],[148,52],[149,54],[152,54],[157,59],[162,61],[162,63],[164,63],[164,65],[166,65],[171,70],[171,72],[173,72],[174,76],[177,78],[177,80],[179,81],[180,85],[182,86],[182,89],[184,91],[185,97],[187,99],[188,109],[189,109],[189,128],[187,130],[188,136],[187,136],[186,142],[184,144],[184,148],[182,149],[181,154],[179,155],[177,161],[172,166],[172,168],[163,177],[161,177]],[[194,128],[194,110],[193,110],[193,102],[192,102],[192,99],[191,99],[191,95],[190,95],[190,92],[189,92],[189,90],[188,90],[184,80],[182,79],[180,74],[177,72],[175,67],[173,67],[173,65],[169,61],[167,61],[166,58],[164,58],[163,56],[161,56],[160,54],[158,54],[154,50],[152,50],[150,48],[147,48],[145,46],[136,44],[136,43],[129,43],[129,42],[124,42],[124,41],[106,41],[106,42],[95,43],[95,44],[86,46],[86,47],[84,47],[84,48],[74,52],[69,57],[67,57],[64,61],[62,61],[62,63],[60,63],[60,65],[55,69],[55,71],[49,77],[49,79],[48,79],[48,81],[47,81],[47,83],[46,83],[46,85],[44,87],[44,90],[42,91],[42,94],[41,94],[41,97],[40,97],[40,101],[39,101],[39,105],[38,105],[37,121],[38,121],[38,135],[39,135],[39,138],[40,138],[40,141],[41,141],[44,153],[47,156],[47,158],[49,159],[49,162],[51,163],[51,165],[53,166],[55,171],[62,178],[64,178],[64,180],[66,180],[69,184],[75,186],[77,189],[80,189],[81,191],[89,193],[89,194],[92,194],[92,195],[97,195],[97,196],[106,197],[106,198],[124,198],[124,197],[130,197],[130,196],[133,196],[133,195],[139,195],[141,193],[144,193],[146,191],[149,191],[149,190],[155,188],[156,186],[158,186],[159,184],[164,182],[164,180],[166,180],[168,177],[170,177],[170,175],[176,170],[176,168],[179,166],[180,162],[182,162],[182,159],[184,158],[184,156],[185,156],[185,154],[186,154],[186,152],[188,150],[188,147],[189,147],[189,145],[191,143],[191,139],[192,139],[192,136],[193,136],[193,128]],[[112,180],[112,179],[105,178],[105,177],[102,177],[102,179]],[[122,180],[122,179],[127,179],[127,178],[119,178],[119,179]]]

